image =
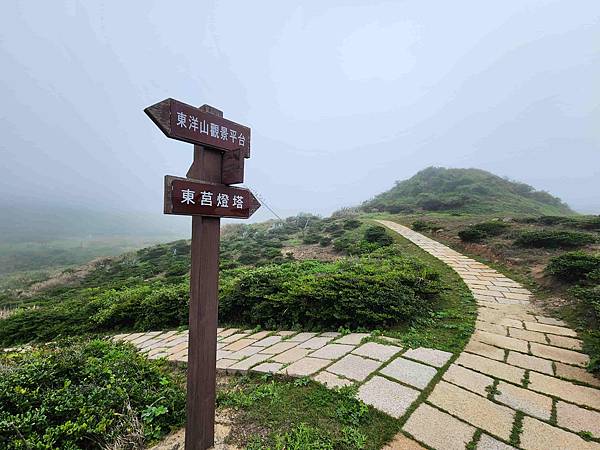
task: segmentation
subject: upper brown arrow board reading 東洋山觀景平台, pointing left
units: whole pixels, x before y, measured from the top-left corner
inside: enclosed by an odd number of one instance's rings
[[[168,98],[144,112],[170,138],[225,151],[242,149],[244,157],[250,157],[250,128],[215,115],[214,108]]]

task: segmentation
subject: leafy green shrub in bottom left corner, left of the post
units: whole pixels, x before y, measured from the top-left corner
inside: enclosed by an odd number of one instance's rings
[[[0,355],[0,447],[143,447],[185,419],[185,392],[163,364],[103,340]]]

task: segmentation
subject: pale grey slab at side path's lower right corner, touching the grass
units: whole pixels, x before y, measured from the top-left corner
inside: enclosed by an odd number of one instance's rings
[[[358,390],[358,398],[384,413],[400,418],[419,396],[419,391],[375,376]]]

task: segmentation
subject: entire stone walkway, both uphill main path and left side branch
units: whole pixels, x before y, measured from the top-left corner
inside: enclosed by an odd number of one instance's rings
[[[403,433],[389,449],[600,449],[600,380],[584,369],[588,356],[576,333],[537,314],[531,293],[497,271],[378,222],[448,264],[473,292],[476,331],[461,354],[405,349],[367,333],[230,328],[218,330],[218,369],[355,385],[361,400],[400,419]],[[115,339],[150,358],[187,358],[186,331]]]

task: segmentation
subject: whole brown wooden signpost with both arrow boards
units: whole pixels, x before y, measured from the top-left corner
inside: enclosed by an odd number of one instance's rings
[[[220,218],[247,219],[260,203],[244,181],[250,128],[209,105],[166,99],[145,113],[168,137],[194,145],[187,178],[165,177],[165,214],[192,216],[186,450],[214,445]]]

